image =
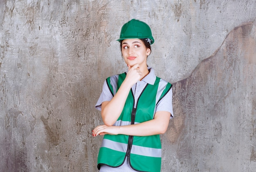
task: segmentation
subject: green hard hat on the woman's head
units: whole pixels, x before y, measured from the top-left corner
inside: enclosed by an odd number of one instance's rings
[[[154,43],[154,38],[152,36],[150,27],[140,20],[132,19],[121,28],[120,38],[117,41],[121,41],[124,39],[143,39],[148,38],[149,44]]]

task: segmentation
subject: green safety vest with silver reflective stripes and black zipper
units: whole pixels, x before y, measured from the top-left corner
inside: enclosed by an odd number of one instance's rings
[[[113,96],[125,78],[126,73],[110,76],[106,79]],[[134,96],[131,89],[126,99],[124,109],[114,126],[138,124],[152,120],[157,103],[167,94],[171,87],[172,85],[170,83],[156,77],[154,85],[146,85],[138,98],[136,106],[134,106]],[[161,156],[160,135],[104,135],[99,150],[98,169],[100,169],[101,164],[106,164],[110,167],[119,167],[124,163],[127,157],[130,166],[134,170],[142,172],[160,172]]]

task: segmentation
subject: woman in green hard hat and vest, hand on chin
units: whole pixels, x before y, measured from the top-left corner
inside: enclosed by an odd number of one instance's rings
[[[154,38],[150,27],[132,19],[121,29],[122,57],[128,72],[110,76],[96,108],[104,125],[92,135],[104,135],[98,156],[100,172],[159,172],[161,142],[173,117],[171,84],[147,66]]]

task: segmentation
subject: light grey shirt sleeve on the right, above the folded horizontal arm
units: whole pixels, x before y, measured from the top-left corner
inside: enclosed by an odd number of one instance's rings
[[[173,88],[171,88],[168,93],[157,103],[156,110],[157,111],[168,111],[171,113],[171,117],[173,118]]]

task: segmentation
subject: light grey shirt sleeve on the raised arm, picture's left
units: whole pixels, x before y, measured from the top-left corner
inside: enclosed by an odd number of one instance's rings
[[[97,101],[95,108],[101,111],[102,102],[110,101],[112,98],[113,96],[108,88],[107,81],[105,80],[103,83],[101,95],[99,96],[99,100]]]

